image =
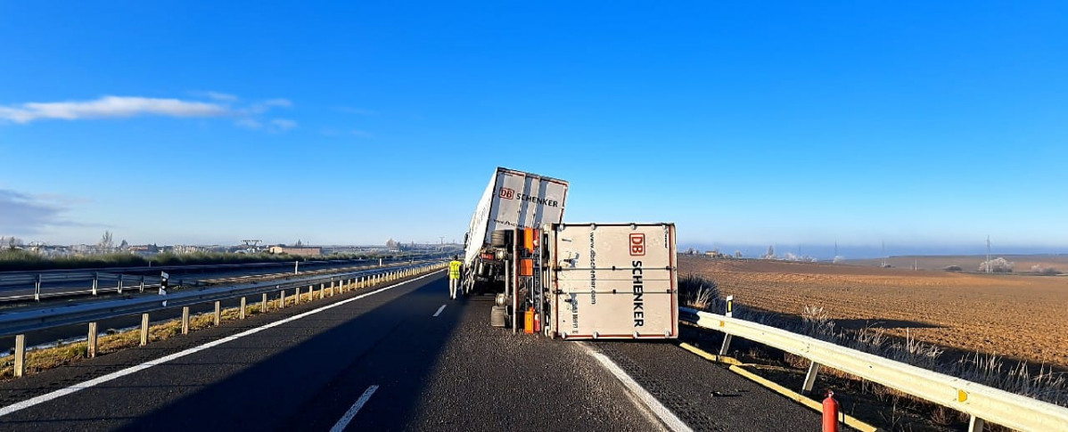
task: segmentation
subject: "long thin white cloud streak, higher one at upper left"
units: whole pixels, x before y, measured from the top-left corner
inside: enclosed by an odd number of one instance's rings
[[[230,115],[227,107],[195,100],[151,97],[104,96],[96,100],[27,102],[0,107],[0,119],[30,123],[45,118],[122,118],[140,115],[167,117],[219,117]]]

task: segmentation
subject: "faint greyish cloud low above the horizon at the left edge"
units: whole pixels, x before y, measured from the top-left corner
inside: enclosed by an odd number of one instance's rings
[[[84,202],[61,195],[30,195],[0,189],[0,229],[6,235],[33,235],[49,226],[99,226],[62,218],[69,206]]]

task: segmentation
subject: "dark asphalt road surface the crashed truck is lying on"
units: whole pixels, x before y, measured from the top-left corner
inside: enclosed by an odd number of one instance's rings
[[[673,343],[513,335],[446,291],[438,272],[3,383],[0,430],[668,429],[598,353],[694,430],[819,431]]]

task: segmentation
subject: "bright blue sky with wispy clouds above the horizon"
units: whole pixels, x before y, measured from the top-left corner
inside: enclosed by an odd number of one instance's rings
[[[447,3],[0,4],[0,235],[461,239],[502,165],[681,245],[1068,252],[1066,3]]]

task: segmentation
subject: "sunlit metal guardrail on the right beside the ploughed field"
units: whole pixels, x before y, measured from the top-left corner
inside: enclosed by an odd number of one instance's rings
[[[967,413],[973,430],[981,430],[986,420],[1020,431],[1068,431],[1068,407],[725,315],[688,307],[679,313],[680,320],[728,338],[741,337],[810,359],[814,366],[805,378],[805,390],[812,389],[816,370],[826,366]]]

